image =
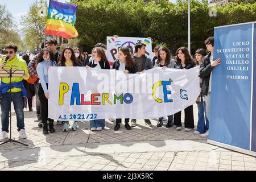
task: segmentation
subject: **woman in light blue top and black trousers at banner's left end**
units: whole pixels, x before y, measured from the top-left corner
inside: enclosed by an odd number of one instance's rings
[[[53,53],[50,49],[43,49],[39,54],[37,59],[36,72],[38,72],[39,80],[39,90],[38,96],[41,103],[41,117],[43,123],[43,134],[55,133],[53,127],[53,119],[48,118],[48,68],[56,67],[57,64],[52,60]],[[49,131],[47,128],[47,119],[49,120]]]

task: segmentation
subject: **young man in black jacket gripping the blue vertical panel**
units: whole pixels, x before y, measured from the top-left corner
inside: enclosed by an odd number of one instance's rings
[[[200,76],[203,77],[203,86],[202,86],[202,92],[205,97],[205,107],[206,107],[206,115],[208,120],[210,120],[210,92],[212,87],[212,70],[214,67],[219,65],[221,63],[221,59],[218,58],[216,60],[213,60],[213,45],[214,45],[214,39],[213,37],[209,37],[207,40],[205,40],[205,46],[207,47],[207,50],[210,51],[207,56],[203,58],[203,61],[200,65]],[[208,130],[209,131],[209,130]],[[208,137],[208,131],[204,134],[201,134],[201,137]]]

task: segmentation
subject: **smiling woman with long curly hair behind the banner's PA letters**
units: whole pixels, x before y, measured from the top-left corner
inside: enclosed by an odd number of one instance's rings
[[[77,67],[77,61],[76,61],[76,56],[71,47],[66,47],[63,49],[61,55],[60,55],[60,60],[58,63],[59,67]],[[64,127],[63,131],[68,131],[69,129],[69,121],[64,122]],[[72,125],[72,130],[77,130],[78,127],[78,122],[74,121]]]

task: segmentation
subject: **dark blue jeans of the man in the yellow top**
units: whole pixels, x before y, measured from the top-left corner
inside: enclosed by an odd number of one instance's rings
[[[7,92],[3,94],[1,99],[1,121],[2,121],[2,131],[9,133],[9,113],[10,113],[10,94],[13,100],[14,110],[16,113],[17,127],[18,131],[24,129],[24,112],[23,112],[23,98],[22,92],[10,93]]]

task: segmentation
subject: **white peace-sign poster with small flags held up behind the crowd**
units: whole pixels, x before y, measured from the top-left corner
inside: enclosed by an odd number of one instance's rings
[[[151,39],[128,38],[128,37],[122,37],[122,36],[115,38],[114,36],[107,36],[107,55],[108,55],[108,60],[110,62],[110,65],[112,65],[113,62],[117,60],[118,47],[129,47],[131,50],[131,53],[133,54],[135,52],[134,46],[137,42],[146,44],[146,56],[150,57],[150,59],[152,60],[154,57],[154,54],[152,52]]]

